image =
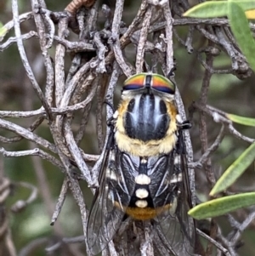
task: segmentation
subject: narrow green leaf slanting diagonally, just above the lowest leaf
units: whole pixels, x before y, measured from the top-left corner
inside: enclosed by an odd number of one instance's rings
[[[235,162],[233,162],[224,174],[218,179],[217,183],[212,188],[210,196],[214,196],[218,192],[226,190],[229,185],[232,185],[236,179],[246,170],[246,168],[255,159],[255,142],[250,145]]]

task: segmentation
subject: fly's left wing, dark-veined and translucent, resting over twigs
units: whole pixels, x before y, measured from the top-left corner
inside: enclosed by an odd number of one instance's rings
[[[133,176],[131,163],[112,142],[100,170],[99,189],[88,217],[88,247],[94,255],[107,246],[122,224],[125,208],[130,202],[129,192],[134,187],[132,177],[127,177]]]

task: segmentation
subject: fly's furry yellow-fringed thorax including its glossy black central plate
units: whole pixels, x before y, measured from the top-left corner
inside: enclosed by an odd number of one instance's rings
[[[121,151],[155,156],[173,150],[178,113],[170,97],[146,93],[122,97],[117,113],[115,138]]]

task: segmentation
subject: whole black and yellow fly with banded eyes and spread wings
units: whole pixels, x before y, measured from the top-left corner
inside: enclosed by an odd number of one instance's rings
[[[139,73],[127,78],[111,121],[111,134],[88,218],[88,247],[102,251],[125,215],[151,221],[171,255],[193,252],[195,225],[188,217],[189,174],[175,84]]]

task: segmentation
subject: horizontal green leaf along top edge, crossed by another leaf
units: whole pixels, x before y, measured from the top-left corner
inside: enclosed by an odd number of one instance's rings
[[[255,9],[255,2],[252,0],[236,0],[231,1],[243,9],[243,11],[249,9]],[[186,11],[183,16],[193,17],[193,18],[216,18],[224,17],[228,15],[228,1],[210,1],[195,5],[188,11]],[[238,19],[236,19],[238,20]]]

